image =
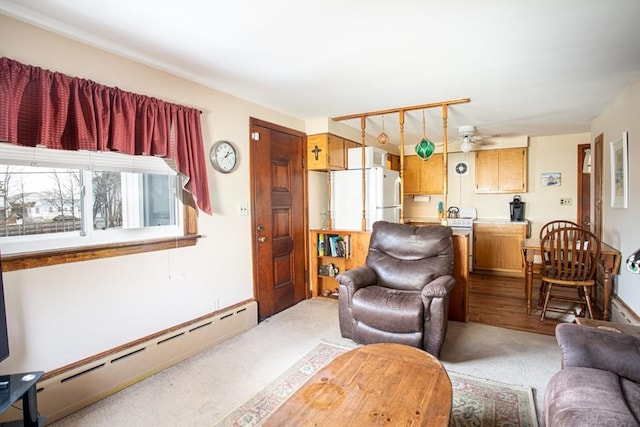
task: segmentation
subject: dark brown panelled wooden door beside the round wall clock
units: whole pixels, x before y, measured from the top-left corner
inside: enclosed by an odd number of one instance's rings
[[[307,297],[305,135],[251,118],[254,293],[260,319]]]

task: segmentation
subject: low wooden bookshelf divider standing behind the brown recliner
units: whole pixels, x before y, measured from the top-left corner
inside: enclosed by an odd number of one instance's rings
[[[326,236],[338,236],[345,242],[347,251],[344,256],[332,256],[328,252]],[[369,252],[369,239],[371,233],[366,231],[336,231],[336,230],[311,230],[310,231],[310,260],[309,279],[311,281],[312,297],[323,296],[327,291],[329,298],[337,298],[332,291],[338,288],[338,281],[333,275],[320,272],[320,266],[332,264],[339,272],[350,270],[365,265]],[[319,242],[323,242],[322,245]],[[320,246],[323,246],[322,248]],[[449,320],[466,322],[469,317],[469,234],[455,233],[453,235],[453,277],[456,285],[449,294]]]

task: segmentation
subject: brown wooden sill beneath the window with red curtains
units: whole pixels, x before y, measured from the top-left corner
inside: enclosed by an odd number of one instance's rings
[[[4,255],[2,271],[24,270],[70,262],[89,261],[114,256],[133,255],[143,252],[163,251],[187,246],[195,246],[199,234],[164,239],[113,243],[99,246],[80,246],[69,249],[29,252],[24,254]]]

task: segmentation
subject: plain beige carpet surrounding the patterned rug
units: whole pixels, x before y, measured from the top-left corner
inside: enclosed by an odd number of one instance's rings
[[[212,426],[267,387],[321,342],[340,336],[338,304],[305,300],[255,328],[55,423],[55,427]],[[554,337],[449,322],[440,359],[448,371],[531,387],[542,396],[560,369]]]

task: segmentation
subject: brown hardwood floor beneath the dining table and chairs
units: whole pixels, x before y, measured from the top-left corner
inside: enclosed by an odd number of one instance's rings
[[[534,309],[528,315],[523,278],[471,273],[468,320],[502,328],[555,335],[555,327],[561,321],[553,318],[540,321],[540,310],[535,308],[539,287],[539,279],[534,278]],[[573,322],[574,318],[558,313],[552,313],[549,317],[564,318],[570,322]],[[601,312],[597,308],[594,308],[594,317],[601,318]]]

